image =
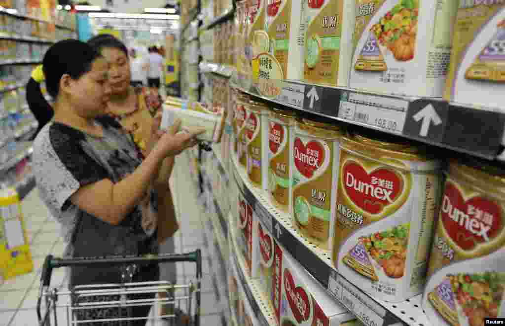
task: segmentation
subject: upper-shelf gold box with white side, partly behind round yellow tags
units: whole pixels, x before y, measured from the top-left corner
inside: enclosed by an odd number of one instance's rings
[[[269,53],[282,69],[280,79],[303,77],[305,21],[302,9],[306,0],[273,0],[267,4],[265,30]]]

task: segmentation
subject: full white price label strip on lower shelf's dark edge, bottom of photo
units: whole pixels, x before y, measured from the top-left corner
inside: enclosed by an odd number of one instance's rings
[[[386,310],[356,286],[332,271],[328,291],[367,326],[383,326]]]

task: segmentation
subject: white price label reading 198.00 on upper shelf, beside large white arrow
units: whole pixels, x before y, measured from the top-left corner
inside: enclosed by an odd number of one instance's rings
[[[338,117],[385,132],[402,134],[409,101],[400,98],[343,92]]]

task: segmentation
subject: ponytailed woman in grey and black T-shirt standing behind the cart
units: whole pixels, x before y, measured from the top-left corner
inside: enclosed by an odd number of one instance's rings
[[[80,41],[60,41],[46,52],[42,69],[47,91],[55,99],[55,117],[34,141],[33,169],[41,199],[62,225],[65,255],[157,253],[156,224],[149,228],[142,223],[156,219],[153,184],[163,160],[194,146],[196,133],[176,135],[180,122],[168,133],[160,133],[160,120],[155,120],[142,161],[131,136],[104,116],[112,89],[109,64],[97,51]],[[40,86],[27,88],[28,98],[39,93]],[[157,265],[133,267],[133,282],[159,279]],[[118,283],[124,273],[124,268],[75,266],[70,268],[69,285]],[[153,295],[134,299],[145,296]],[[135,307],[133,314],[146,316],[149,309]],[[114,318],[120,313],[125,312],[96,308],[77,317]]]

